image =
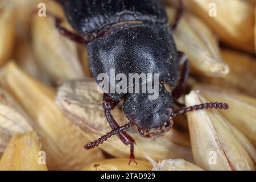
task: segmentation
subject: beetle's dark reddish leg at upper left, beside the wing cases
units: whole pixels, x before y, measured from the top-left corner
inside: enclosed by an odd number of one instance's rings
[[[93,38],[86,38],[86,36],[80,36],[78,34],[75,34],[74,32],[68,30],[67,28],[61,27],[61,21],[62,19],[59,18],[58,16],[52,14],[51,12],[47,11],[47,15],[51,16],[52,18],[55,19],[55,27],[57,30],[60,32],[61,35],[71,39],[73,42],[83,44],[86,46],[86,44],[92,42]]]

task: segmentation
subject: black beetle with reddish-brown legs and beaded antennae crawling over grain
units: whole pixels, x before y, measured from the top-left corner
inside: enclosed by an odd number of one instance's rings
[[[112,131],[85,145],[85,149],[96,147],[117,135],[130,145],[130,162],[135,161],[134,139],[125,130],[137,126],[142,137],[164,134],[174,124],[172,118],[187,111],[219,108],[228,109],[228,104],[210,102],[174,110],[174,103],[183,94],[188,78],[189,66],[182,52],[177,51],[172,31],[183,12],[179,1],[175,23],[170,28],[164,6],[159,0],[56,0],[63,7],[65,16],[73,29],[61,27],[61,19],[55,18],[56,28],[67,38],[84,44],[88,49],[90,69],[97,84],[100,73],[110,75],[110,69],[126,76],[129,73],[158,73],[159,97],[148,100],[149,93],[104,93],[102,106]],[[180,67],[182,66],[182,69]],[[149,84],[148,82],[144,84]],[[172,88],[168,92],[164,84]],[[127,85],[128,90],[135,85]],[[111,110],[119,101],[129,123],[119,126]],[[136,163],[137,164],[137,163]]]

